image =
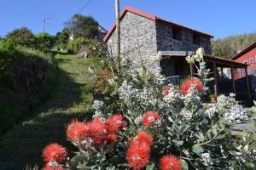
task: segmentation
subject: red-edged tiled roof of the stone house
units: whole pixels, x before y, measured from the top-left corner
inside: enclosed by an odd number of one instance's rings
[[[189,27],[186,27],[186,26],[182,26],[182,25],[176,24],[176,23],[171,22],[171,21],[169,21],[169,20],[161,19],[160,17],[157,17],[157,16],[155,16],[154,14],[148,14],[148,13],[145,13],[145,12],[143,12],[143,11],[137,10],[136,8],[131,8],[131,7],[125,7],[125,8],[122,10],[122,12],[121,12],[121,14],[120,14],[120,20],[122,20],[122,19],[124,18],[125,14],[126,14],[127,12],[131,12],[131,13],[133,13],[133,14],[140,15],[140,16],[142,16],[142,17],[144,17],[144,18],[147,18],[147,19],[149,19],[149,20],[154,20],[154,21],[156,21],[156,22],[162,22],[162,23],[164,23],[164,24],[166,24],[166,25],[169,25],[169,26],[174,26],[174,27],[182,28],[182,29],[184,29],[184,30],[191,31],[191,32],[193,32],[193,33],[199,34],[199,35],[204,36],[204,37],[209,37],[209,38],[212,38],[212,37],[213,37],[213,36],[210,35],[210,34],[207,34],[207,33],[201,32],[201,31],[196,31],[196,30],[194,30],[194,29],[192,29],[192,28],[189,28]],[[111,37],[113,31],[115,30],[115,27],[116,27],[116,25],[115,25],[115,23],[114,23],[113,26],[109,29],[108,34],[104,37],[103,42],[107,42],[107,41],[108,41],[108,38]]]

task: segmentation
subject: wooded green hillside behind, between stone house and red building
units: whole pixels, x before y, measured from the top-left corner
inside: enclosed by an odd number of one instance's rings
[[[253,42],[256,42],[256,32],[213,40],[212,54],[219,57],[230,58],[239,51],[247,48]]]

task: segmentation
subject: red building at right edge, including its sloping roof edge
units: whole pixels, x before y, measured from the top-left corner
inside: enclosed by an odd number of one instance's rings
[[[256,76],[256,42],[232,57],[233,60],[247,64],[247,74]],[[242,70],[236,71],[236,79],[246,76]]]

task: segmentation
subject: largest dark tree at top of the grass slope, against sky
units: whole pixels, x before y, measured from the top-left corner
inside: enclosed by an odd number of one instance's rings
[[[74,14],[72,19],[66,23],[69,35],[73,34],[74,38],[95,38],[99,34],[98,26],[98,22],[92,16],[82,14]]]

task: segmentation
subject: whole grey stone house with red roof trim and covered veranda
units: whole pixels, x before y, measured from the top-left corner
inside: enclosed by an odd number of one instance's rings
[[[103,42],[107,43],[108,52],[113,56],[116,48],[115,27],[113,24],[103,39]],[[214,90],[216,95],[218,92],[237,93],[233,77],[229,88],[232,91],[218,88],[221,84],[226,84],[223,70],[224,68],[232,71],[236,68],[246,69],[247,65],[212,56],[211,38],[212,36],[207,33],[161,19],[136,8],[126,7],[120,14],[121,55],[131,58],[140,55],[142,59],[152,59],[160,54],[158,65],[162,69],[162,74],[169,82],[178,85],[183,77],[194,76],[195,68],[186,62],[185,56],[202,47],[206,51],[207,67],[212,70],[212,77],[215,78],[212,91]],[[221,70],[220,75],[219,70]]]

